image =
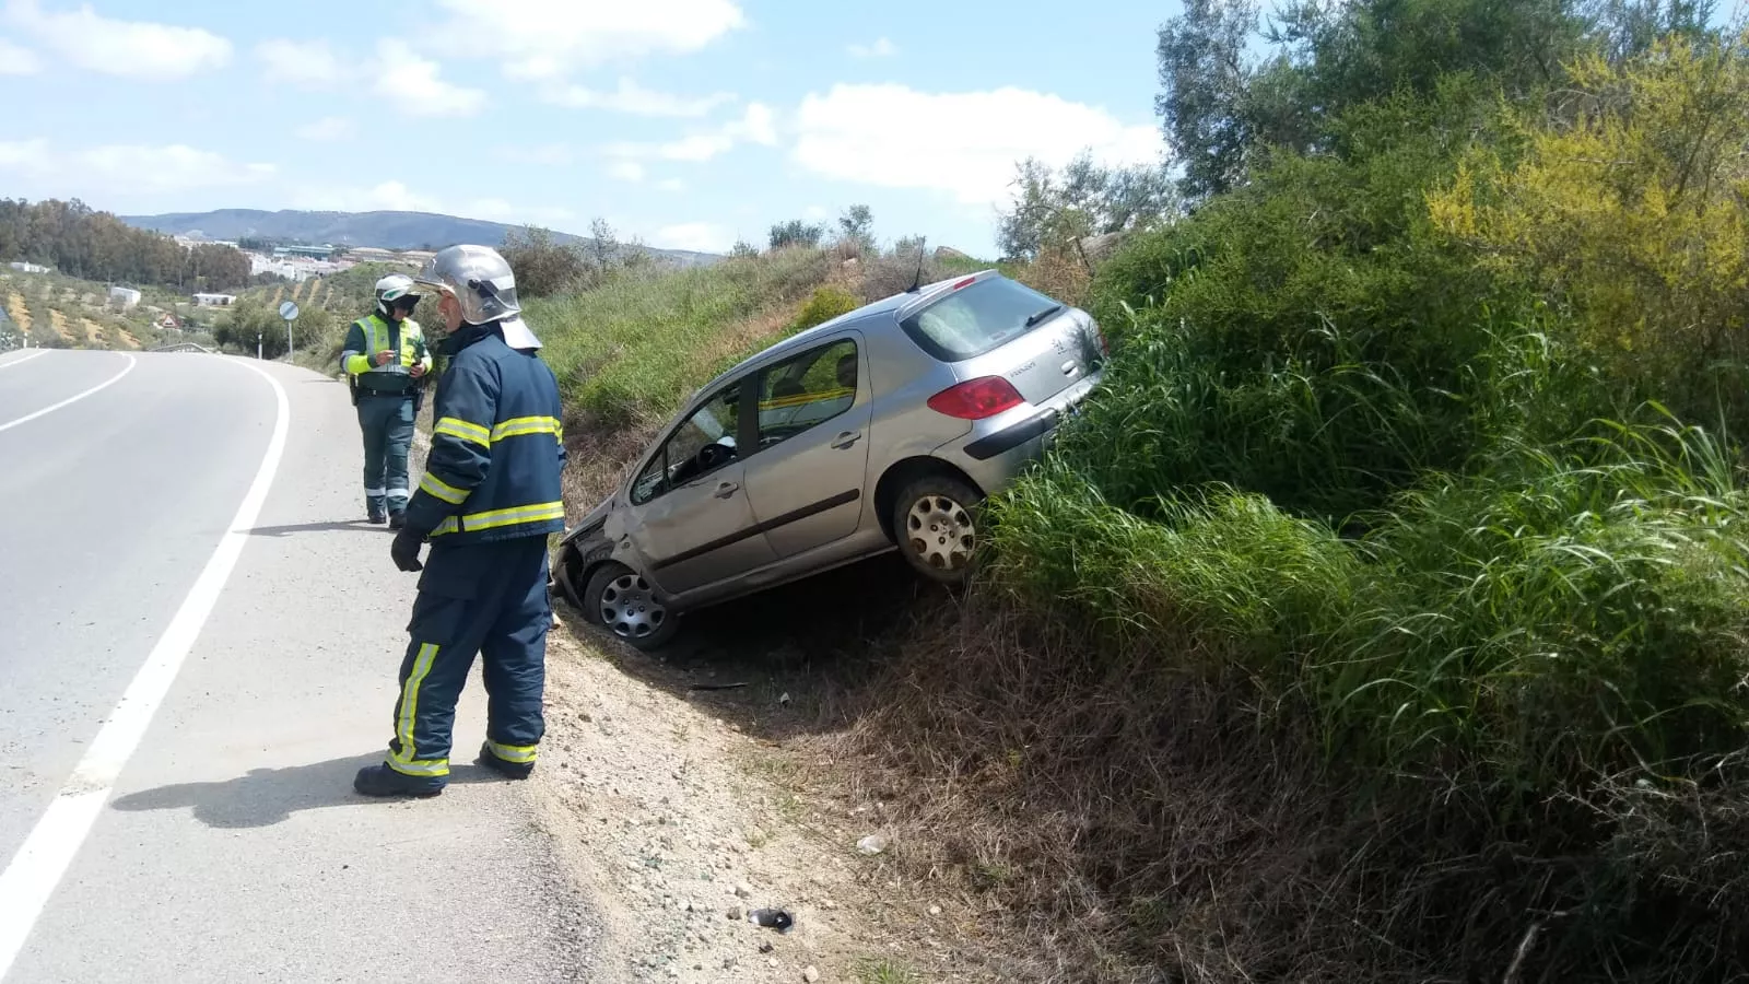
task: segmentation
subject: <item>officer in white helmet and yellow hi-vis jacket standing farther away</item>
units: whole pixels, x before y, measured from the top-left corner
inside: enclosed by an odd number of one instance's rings
[[[413,278],[390,273],[376,282],[376,310],[352,322],[339,364],[352,385],[364,432],[364,508],[373,524],[401,529],[408,508],[408,450],[418,413],[420,380],[432,368],[413,308]]]

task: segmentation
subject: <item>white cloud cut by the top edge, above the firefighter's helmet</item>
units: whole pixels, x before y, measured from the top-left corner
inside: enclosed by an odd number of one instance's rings
[[[490,58],[514,79],[563,79],[572,70],[651,54],[689,54],[742,28],[733,0],[437,0],[449,19],[430,44],[456,58]]]

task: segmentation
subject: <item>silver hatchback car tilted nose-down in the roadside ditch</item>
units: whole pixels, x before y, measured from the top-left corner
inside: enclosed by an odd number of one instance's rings
[[[857,308],[701,387],[565,534],[553,580],[640,650],[682,613],[888,550],[958,583],[976,506],[1104,357],[1086,312],[993,270]]]

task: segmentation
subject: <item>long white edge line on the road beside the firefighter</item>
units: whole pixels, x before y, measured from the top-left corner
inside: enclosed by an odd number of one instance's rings
[[[5,872],[0,872],[0,979],[5,979],[12,961],[24,949],[24,940],[49,903],[54,886],[66,874],[73,854],[79,853],[86,835],[91,833],[91,825],[96,823],[108,802],[117,776],[140,748],[140,739],[145,737],[152,714],[164,702],[164,693],[170,692],[182,662],[194,648],[201,627],[219,602],[219,594],[248,541],[248,531],[255,525],[255,517],[261,515],[261,506],[268,499],[273,474],[280,469],[292,417],[285,387],[264,369],[241,361],[240,364],[273,385],[278,417],[273,424],[273,436],[268,439],[268,452],[261,459],[261,469],[255,471],[255,481],[248,487],[248,494],[243,496],[243,503],[231,520],[231,529],[219,541],[212,559],[206,560],[206,567],[201,569],[189,597],[182,601],[182,608],[170,620],[170,627],[152,646],[152,655],[145,658],[145,665],[140,667],[133,683],[121,695],[121,702],[103,721],[98,737],[79,760],[72,777],[61,786],[37,826],[30,830],[17,856],[12,858]]]

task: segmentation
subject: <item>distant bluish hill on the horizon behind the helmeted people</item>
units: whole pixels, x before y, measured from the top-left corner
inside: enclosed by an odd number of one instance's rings
[[[217,212],[173,212],[168,215],[121,215],[122,222],[140,229],[154,229],[175,236],[205,236],[208,240],[240,240],[261,236],[282,242],[332,243],[381,249],[446,247],[453,243],[498,245],[505,233],[519,226],[460,219],[434,212],[262,212],[259,208],[219,208]],[[588,236],[553,231],[553,238],[568,243],[588,243]],[[658,256],[684,264],[705,264],[721,259],[708,252],[677,249],[651,249]]]

